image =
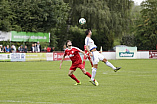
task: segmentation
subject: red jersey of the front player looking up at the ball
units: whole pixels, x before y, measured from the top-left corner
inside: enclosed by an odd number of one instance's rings
[[[79,54],[80,51],[81,50],[77,47],[72,47],[71,49],[67,48],[65,50],[64,56],[69,56],[73,65],[82,64],[82,59]]]

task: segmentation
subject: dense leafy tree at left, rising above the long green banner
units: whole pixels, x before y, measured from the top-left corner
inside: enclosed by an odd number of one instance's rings
[[[56,28],[66,25],[70,7],[63,0],[1,0],[0,30],[50,32],[56,45]]]

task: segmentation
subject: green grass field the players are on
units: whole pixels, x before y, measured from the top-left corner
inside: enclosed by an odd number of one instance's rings
[[[70,61],[0,62],[1,104],[155,104],[157,103],[157,60],[110,60],[122,66],[117,73],[99,63],[99,86],[77,69],[82,82],[74,86],[67,76]],[[86,62],[86,70],[91,66]]]

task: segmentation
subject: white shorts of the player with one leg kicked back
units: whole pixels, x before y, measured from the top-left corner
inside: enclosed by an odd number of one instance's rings
[[[99,60],[102,61],[104,59],[104,56],[100,54],[98,51],[93,51],[92,54],[93,65],[98,64]]]

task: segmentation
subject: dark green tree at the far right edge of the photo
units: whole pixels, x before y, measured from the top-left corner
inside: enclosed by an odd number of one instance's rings
[[[141,6],[141,18],[135,31],[136,46],[142,50],[154,50],[157,44],[157,1],[146,0]]]

